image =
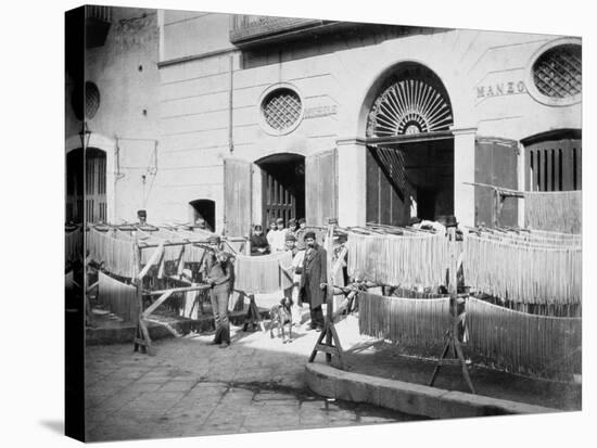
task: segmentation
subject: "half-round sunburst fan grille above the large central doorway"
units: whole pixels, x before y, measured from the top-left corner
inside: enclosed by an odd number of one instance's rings
[[[388,87],[369,114],[368,137],[393,137],[447,130],[452,107],[427,79],[405,78]]]

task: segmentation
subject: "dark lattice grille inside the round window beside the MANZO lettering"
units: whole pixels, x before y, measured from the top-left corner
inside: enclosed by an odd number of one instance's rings
[[[549,98],[568,98],[581,93],[581,46],[554,47],[533,64],[533,80],[537,90]]]

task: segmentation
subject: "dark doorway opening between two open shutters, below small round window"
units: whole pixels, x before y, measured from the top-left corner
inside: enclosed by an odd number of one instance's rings
[[[262,225],[305,217],[305,157],[281,153],[256,164],[262,169]]]

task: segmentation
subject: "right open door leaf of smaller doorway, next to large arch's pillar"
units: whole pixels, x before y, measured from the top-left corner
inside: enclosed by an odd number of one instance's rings
[[[327,226],[330,218],[338,218],[336,166],[335,149],[305,157],[307,226]]]

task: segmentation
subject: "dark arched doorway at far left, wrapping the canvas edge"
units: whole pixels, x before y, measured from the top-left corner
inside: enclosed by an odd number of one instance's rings
[[[85,169],[84,169],[85,166]],[[106,221],[106,156],[96,148],[66,154],[66,222]]]

